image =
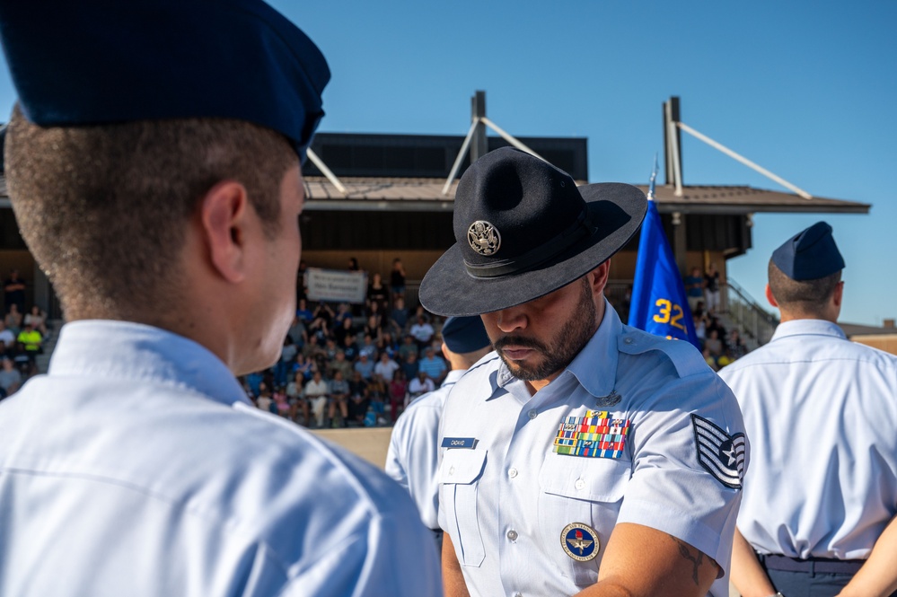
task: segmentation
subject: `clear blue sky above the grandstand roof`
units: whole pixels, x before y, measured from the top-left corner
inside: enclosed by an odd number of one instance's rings
[[[321,47],[329,132],[463,135],[470,96],[515,136],[586,136],[593,182],[646,183],[661,104],[813,195],[869,215],[757,215],[728,262],[762,299],[769,255],[824,219],[844,254],[841,320],[897,317],[897,3],[383,0],[271,2]],[[0,75],[0,112],[14,101]],[[771,180],[683,135],[686,184]],[[663,180],[663,173],[661,174]]]

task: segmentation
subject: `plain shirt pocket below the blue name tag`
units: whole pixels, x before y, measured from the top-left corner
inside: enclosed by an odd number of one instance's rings
[[[446,450],[439,469],[439,507],[452,513],[454,529],[446,529],[452,535],[453,547],[462,566],[483,563],[486,550],[479,524],[479,479],[486,469],[486,450]]]

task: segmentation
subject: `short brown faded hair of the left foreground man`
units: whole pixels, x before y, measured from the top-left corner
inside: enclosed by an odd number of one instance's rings
[[[298,167],[284,136],[241,120],[40,127],[18,106],[5,152],[22,236],[78,318],[125,319],[176,300],[190,218],[222,180],[242,183],[273,236],[280,183]]]

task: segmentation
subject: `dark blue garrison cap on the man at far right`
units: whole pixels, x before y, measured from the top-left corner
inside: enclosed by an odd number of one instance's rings
[[[844,269],[831,226],[817,222],[772,253],[772,262],[792,280],[815,280]]]

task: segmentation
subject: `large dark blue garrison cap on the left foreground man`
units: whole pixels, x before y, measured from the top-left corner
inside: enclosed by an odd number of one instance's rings
[[[260,0],[3,0],[0,42],[37,125],[246,120],[302,159],[330,80],[321,50]]]

